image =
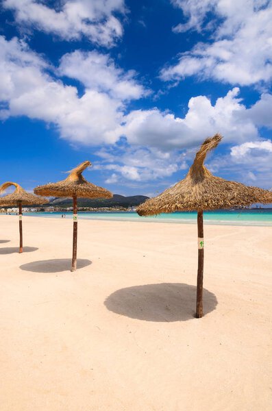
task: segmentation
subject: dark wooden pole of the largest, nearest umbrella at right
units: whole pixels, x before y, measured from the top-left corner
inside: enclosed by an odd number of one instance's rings
[[[203,239],[203,211],[197,212],[198,234],[198,269],[197,269],[197,319],[203,315],[203,266],[204,266],[204,239]]]

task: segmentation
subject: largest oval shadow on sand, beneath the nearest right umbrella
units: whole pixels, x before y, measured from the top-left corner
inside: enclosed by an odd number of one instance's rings
[[[187,321],[195,317],[197,287],[180,283],[121,288],[104,301],[108,310],[144,321]],[[203,290],[203,313],[215,310],[217,297]]]

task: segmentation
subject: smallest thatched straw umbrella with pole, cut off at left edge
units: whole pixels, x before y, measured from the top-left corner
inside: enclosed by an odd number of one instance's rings
[[[19,253],[23,253],[23,214],[22,206],[34,206],[37,204],[48,203],[47,199],[39,197],[38,195],[26,192],[19,184],[6,182],[1,185],[0,193],[4,192],[8,187],[14,186],[15,190],[12,194],[0,197],[0,206],[16,206],[19,212],[19,233],[20,233],[20,249]]]

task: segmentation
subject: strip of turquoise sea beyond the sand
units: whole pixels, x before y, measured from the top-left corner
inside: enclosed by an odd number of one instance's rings
[[[25,216],[39,216],[61,219],[63,212],[31,212]],[[71,219],[73,212],[66,212],[66,219]],[[258,210],[217,210],[204,212],[207,224],[217,225],[256,225],[272,227],[272,209]],[[136,212],[79,212],[78,219],[112,221],[153,221],[156,223],[196,223],[197,212],[174,212],[152,217],[140,217]]]

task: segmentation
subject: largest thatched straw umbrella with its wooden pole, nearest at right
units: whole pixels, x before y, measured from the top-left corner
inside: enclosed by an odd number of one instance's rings
[[[215,177],[203,162],[208,151],[217,147],[220,134],[207,138],[195,156],[186,177],[168,188],[158,197],[148,199],[137,208],[140,216],[150,216],[162,212],[197,211],[198,230],[198,271],[197,271],[197,318],[202,316],[203,294],[203,210],[250,206],[253,203],[272,203],[272,193],[257,187],[248,187],[237,182],[229,182]]]

